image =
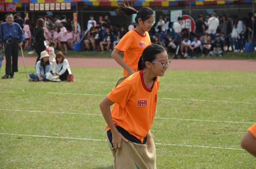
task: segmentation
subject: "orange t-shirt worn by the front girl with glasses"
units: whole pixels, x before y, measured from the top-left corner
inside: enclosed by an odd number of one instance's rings
[[[154,120],[158,88],[159,78],[154,82],[152,89],[147,88],[141,70],[127,77],[108,94],[108,98],[115,102],[111,111],[115,126],[122,127],[141,143]]]

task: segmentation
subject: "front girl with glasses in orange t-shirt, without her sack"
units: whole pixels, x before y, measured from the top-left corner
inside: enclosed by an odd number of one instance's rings
[[[115,149],[121,148],[121,140],[145,144],[157,105],[158,76],[164,76],[170,63],[162,46],[147,46],[140,57],[138,72],[112,89],[100,103],[108,140]]]

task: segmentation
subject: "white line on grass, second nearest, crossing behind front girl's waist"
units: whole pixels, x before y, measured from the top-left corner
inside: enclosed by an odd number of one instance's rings
[[[15,111],[15,112],[41,112],[41,113],[59,113],[59,114],[75,114],[75,115],[96,115],[102,116],[101,114],[85,114],[85,113],[69,113],[69,112],[44,112],[44,111],[32,111],[32,110],[10,110],[10,109],[0,109],[4,111]],[[154,119],[166,119],[166,120],[186,120],[186,121],[207,121],[207,122],[220,122],[220,123],[249,123],[253,122],[239,122],[239,121],[218,121],[218,120],[197,120],[197,119],[182,119],[182,118],[165,118],[165,117],[154,117]]]

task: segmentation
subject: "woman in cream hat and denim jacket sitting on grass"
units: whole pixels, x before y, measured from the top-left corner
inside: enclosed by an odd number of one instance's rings
[[[29,73],[29,81],[46,80],[46,73],[52,70],[52,63],[49,62],[49,57],[46,51],[41,52],[40,60],[36,63],[35,74]]]

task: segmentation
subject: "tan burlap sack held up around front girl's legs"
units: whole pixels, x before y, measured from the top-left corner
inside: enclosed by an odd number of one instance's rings
[[[121,149],[108,145],[114,156],[114,169],[156,169],[156,147],[150,132],[145,144],[125,142],[122,140]]]

